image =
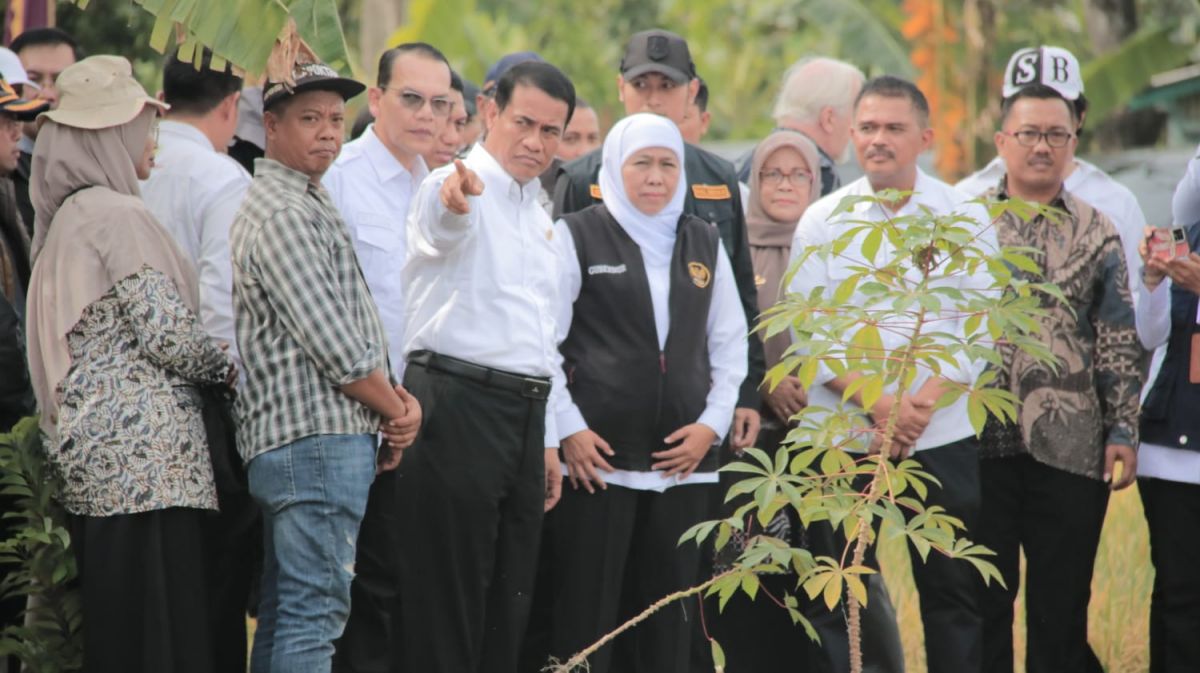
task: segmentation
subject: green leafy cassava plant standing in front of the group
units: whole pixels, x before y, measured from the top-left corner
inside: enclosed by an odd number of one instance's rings
[[[988,245],[988,240],[995,241],[995,236],[984,235],[990,222],[978,223],[959,214],[940,215],[925,208],[878,222],[854,218],[860,208],[884,206],[907,196],[884,191],[844,199],[834,211],[834,216],[847,216],[840,235],[830,244],[797,251],[784,286],[810,258],[845,256],[850,246],[858,246],[854,250],[860,254],[856,257],[865,259],[865,264],[850,265],[848,277],[838,287],[786,294],[764,312],[755,329],[768,337],[788,330],[793,335],[785,356],[767,374],[772,387],[787,375],[796,375],[810,387],[821,367],[839,377],[857,378],[836,408],[808,407],[793,416],[787,439],[774,455],[749,449],[742,459],[722,468],[740,475],[726,495],[726,503],[736,507],[733,513],[696,524],[680,543],[712,543],[715,552],[721,552],[737,531],[745,540],[740,553],[726,552],[733,557],[727,570],[665,596],[551,671],[584,668],[588,656],[600,647],[673,601],[715,595],[724,609],[739,591],[751,600],[764,591],[761,575],[791,573],[796,591],[810,600],[821,600],[829,609],[846,602],[851,671],[858,673],[863,666],[859,613],[866,603],[864,576],[875,572],[864,565],[864,557],[880,530],[907,540],[920,561],[930,553],[944,554],[972,564],[986,582],[1002,581],[988,560],[991,552],[966,537],[960,519],[940,506],[925,505],[929,486],[937,485],[937,480],[917,461],[883,456],[890,455],[895,440],[899,401],[910,393],[922,371],[940,375],[964,362],[982,371],[970,384],[943,385],[935,403],[938,409],[965,397],[977,434],[989,415],[1014,421],[1019,401],[989,385],[996,377],[991,366],[1001,365],[1002,348],[1024,350],[1055,366],[1054,355],[1037,336],[1037,319],[1043,314],[1043,299],[1061,300],[1062,294],[1052,284],[1016,277],[1016,269],[1039,274],[1039,253]],[[1006,211],[1021,218],[1054,216],[1044,206],[1018,199],[989,202],[984,208],[992,222]],[[889,212],[886,208],[883,211]],[[881,254],[881,250],[889,252]],[[989,282],[977,282],[970,289],[952,282],[964,275]],[[953,330],[948,328],[952,320]],[[904,335],[902,345],[884,347],[886,332]],[[874,422],[862,409],[871,408],[884,392],[895,395],[898,403],[888,417]],[[856,395],[862,407],[850,402]],[[815,555],[763,533],[784,509],[791,509],[804,527],[833,527],[844,541],[841,552],[835,557]],[[772,595],[769,600],[786,609],[810,638],[817,638],[796,595]],[[716,641],[710,644],[716,672],[722,673],[725,654]]]

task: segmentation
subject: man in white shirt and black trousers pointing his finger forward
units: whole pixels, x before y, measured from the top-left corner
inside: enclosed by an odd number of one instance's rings
[[[487,138],[433,172],[408,220],[404,385],[427,409],[401,462],[406,669],[515,673],[542,512],[562,488],[558,254],[538,205],[575,88],[514,66]]]

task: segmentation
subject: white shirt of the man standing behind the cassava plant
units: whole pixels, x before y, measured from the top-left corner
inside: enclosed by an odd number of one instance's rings
[[[804,212],[804,216],[800,217],[799,226],[796,228],[796,236],[792,240],[792,263],[794,263],[809,246],[821,246],[838,239],[842,234],[842,228],[851,226],[845,224],[846,220],[870,222],[883,221],[887,214],[883,211],[883,206],[877,204],[858,204],[853,211],[848,214],[842,212],[833,217],[830,221],[833,211],[845,197],[872,196],[874,193],[875,191],[871,188],[868,179],[859,178],[850,185],[846,185],[836,192],[833,192],[832,194],[826,196],[815,204],[810,205]],[[926,175],[924,172],[918,169],[917,181],[913,186],[913,196],[908,199],[908,203],[900,208],[900,210],[893,216],[899,217],[917,215],[922,206],[929,208],[934,212],[942,215],[959,212],[979,223],[979,241],[984,247],[998,250],[996,232],[995,228],[990,226],[988,212],[979,204],[967,202],[970,202],[970,197],[967,194],[955,190],[941,180],[936,180]],[[787,288],[788,292],[808,295],[815,288],[823,287],[824,296],[827,299],[832,299],[838,286],[853,274],[850,269],[851,266],[871,265],[866,257],[862,253],[862,238],[865,235],[866,232],[860,233],[856,239],[856,242],[850,245],[840,256],[830,256],[828,259],[823,259],[817,254],[810,256],[797,270],[796,276],[792,278],[792,283]],[[889,259],[890,254],[893,254],[892,247],[884,236],[883,242],[880,245],[876,260],[882,265]],[[912,281],[917,281],[919,278],[919,272],[916,269],[911,269],[910,278]],[[991,283],[991,276],[983,268],[980,268],[977,274],[968,276],[959,272],[948,278],[943,278],[941,282],[941,284],[954,287],[960,290],[984,290],[989,288]],[[948,300],[943,299],[943,304],[946,302],[948,302]],[[872,306],[859,293],[856,293],[850,299],[848,304],[865,306],[868,308],[890,311],[889,302]],[[964,318],[959,316],[956,311],[953,311],[948,304],[946,304],[941,313],[941,317],[944,318],[944,320],[938,320],[935,326],[930,326],[928,330],[936,330],[938,332],[946,332],[961,337],[964,335]],[[902,329],[881,329],[880,337],[883,341],[883,347],[887,350],[901,348],[907,341],[902,332]],[[937,337],[934,337],[934,339],[942,341]],[[959,357],[958,360],[958,366],[953,368],[942,365],[942,378],[958,383],[973,383],[983,369],[983,362],[971,362],[965,357]],[[930,372],[922,368],[913,381],[912,387],[910,387],[910,391],[916,392],[919,390],[920,386],[929,380],[929,378]],[[809,389],[810,405],[838,409],[842,404],[841,395],[824,386],[826,383],[833,379],[833,371],[824,365],[818,367],[817,377],[812,381],[812,386]],[[887,389],[887,392],[894,393],[895,389],[889,387]],[[944,446],[972,434],[974,434],[974,431],[972,429],[971,422],[967,417],[966,397],[964,396],[960,397],[954,404],[934,411],[929,426],[917,440],[914,449],[920,451],[923,449]]]

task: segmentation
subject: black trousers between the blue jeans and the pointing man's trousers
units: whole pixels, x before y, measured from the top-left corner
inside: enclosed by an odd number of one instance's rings
[[[402,671],[398,486],[397,470],[371,483],[355,551],[350,618],[334,644],[336,673]]]

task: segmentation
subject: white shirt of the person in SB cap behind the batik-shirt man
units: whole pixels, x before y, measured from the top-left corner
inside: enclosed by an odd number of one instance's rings
[[[983,169],[960,180],[955,187],[972,197],[979,197],[997,186],[1006,172],[1004,160],[996,157]],[[1062,186],[1070,192],[1070,196],[1082,200],[1112,221],[1117,235],[1121,236],[1121,250],[1126,254],[1129,296],[1136,307],[1138,287],[1141,286],[1141,254],[1138,253],[1138,246],[1146,236],[1146,215],[1142,214],[1141,205],[1138,204],[1138,197],[1128,187],[1110,178],[1108,173],[1081,158],[1075,158],[1075,170],[1072,170],[1070,175],[1063,180]],[[1139,325],[1139,337],[1142,336],[1141,332],[1142,329]],[[1142,338],[1142,344],[1150,348],[1145,338]]]

